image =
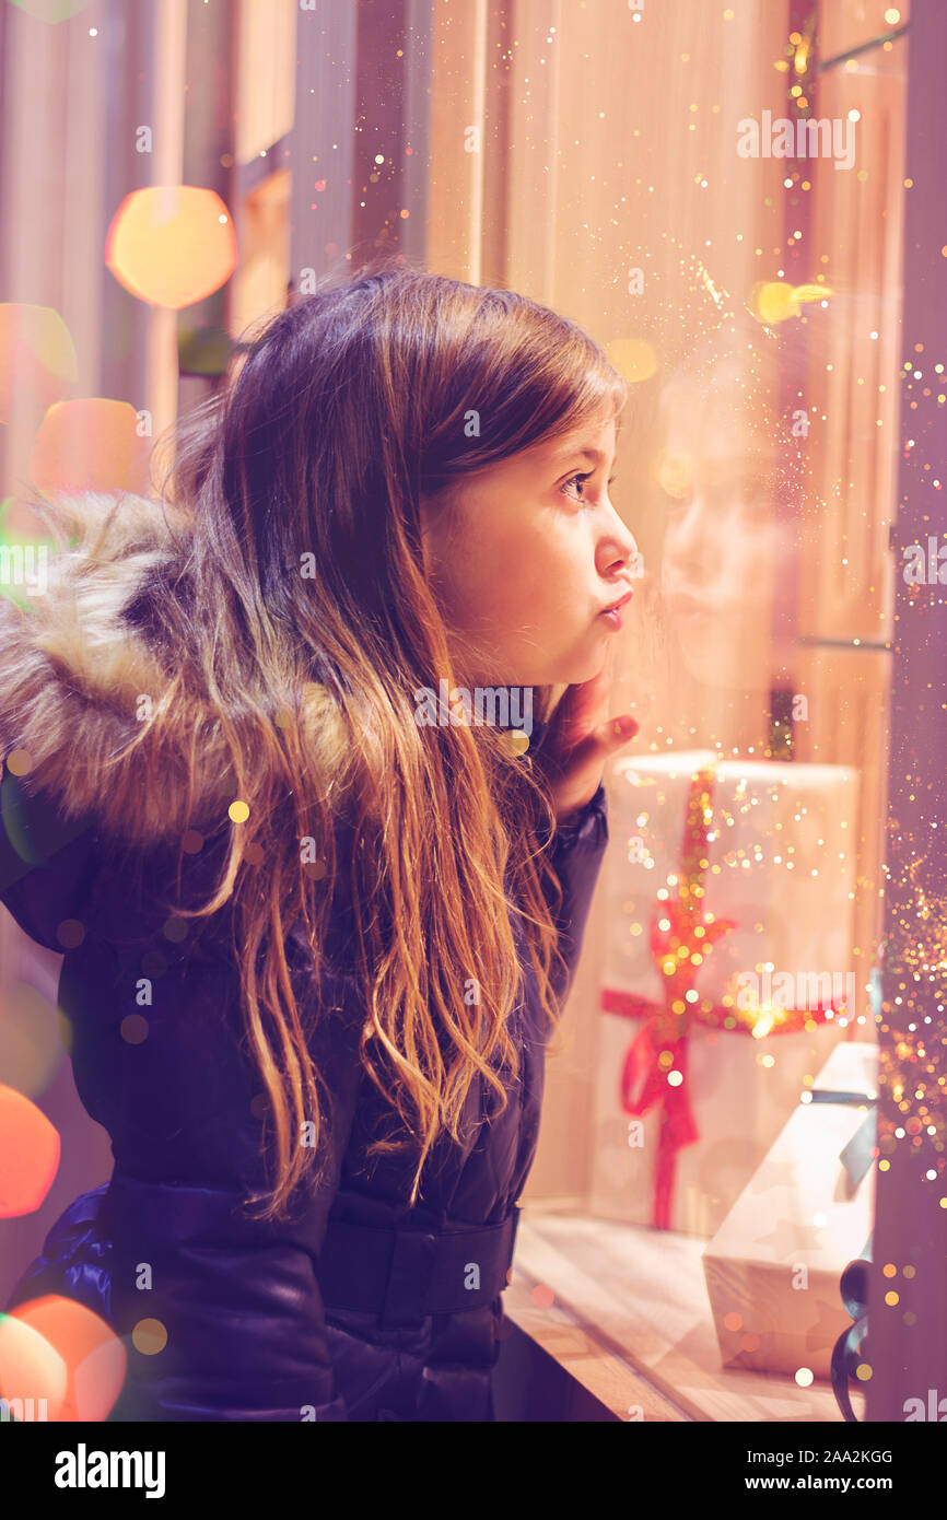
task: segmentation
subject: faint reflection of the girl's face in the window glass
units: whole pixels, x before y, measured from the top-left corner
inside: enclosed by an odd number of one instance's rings
[[[657,461],[661,591],[687,670],[708,686],[771,682],[777,456],[739,395],[675,386]],[[755,427],[754,427],[755,423]]]

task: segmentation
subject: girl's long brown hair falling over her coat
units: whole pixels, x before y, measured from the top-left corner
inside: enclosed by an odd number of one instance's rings
[[[512,906],[558,1026],[549,792],[499,728],[416,722],[413,693],[456,679],[420,503],[448,509],[459,477],[617,413],[625,397],[602,350],[562,316],[398,258],[331,275],[268,318],[239,372],[173,433],[163,494],[188,517],[188,594],[166,591],[161,617],[199,670],[245,804],[216,891],[192,912],[233,900],[275,1138],[266,1218],[283,1214],[330,1117],[286,935],[304,929],[318,976],[339,863],[360,1059],[410,1135],[369,1154],[420,1148],[412,1204],[439,1132],[458,1138],[477,1073],[505,1107],[499,1070],[518,1072]],[[553,690],[537,689],[541,719]]]

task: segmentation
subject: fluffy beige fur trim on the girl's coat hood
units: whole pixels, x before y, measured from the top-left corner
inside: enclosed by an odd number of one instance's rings
[[[157,708],[170,675],[123,617],[179,556],[187,520],[131,492],[61,497],[40,515],[53,538],[47,588],[27,608],[0,594],[0,754],[24,751],[11,769],[62,818],[94,819],[128,842],[220,825],[234,793],[219,724],[190,678],[173,698],[172,737],[161,752],[147,742],[141,699]]]

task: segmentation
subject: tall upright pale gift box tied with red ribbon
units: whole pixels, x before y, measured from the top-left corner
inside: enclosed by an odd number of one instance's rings
[[[701,910],[733,927],[693,973],[699,1003],[689,1020],[684,1081],[698,1138],[676,1151],[664,1222],[708,1237],[854,1017],[850,894],[856,860],[850,845],[857,772],[847,766],[717,762],[710,749],[641,755],[613,768],[591,1208],[634,1224],[658,1222],[655,1167],[664,1117],[660,1107],[629,1117],[622,1100],[623,1067],[646,1009],[661,1008],[666,996],[651,927],[687,876],[686,819],[701,775],[710,778],[699,851]],[[769,986],[765,968],[774,977]],[[786,982],[775,982],[781,971],[793,974],[789,991]],[[798,1032],[768,1038],[755,1038],[746,1028],[721,1028],[719,1017],[704,1021],[702,1009],[728,1012],[748,985],[740,980],[745,973],[760,977],[763,1011],[769,996],[781,1008],[810,1008],[812,1017],[795,1018]],[[803,997],[795,996],[797,986]],[[815,1011],[813,990],[828,990],[825,1002],[835,1008],[848,999],[841,1023],[836,1014],[825,1018]],[[766,1028],[763,1014],[757,1034]]]

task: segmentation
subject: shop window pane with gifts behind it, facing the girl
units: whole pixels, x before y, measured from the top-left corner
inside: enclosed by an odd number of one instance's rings
[[[906,12],[830,52],[780,6],[629,9],[562,17],[550,295],[632,382],[641,728],[520,1260],[645,1376],[625,1418],[830,1421],[874,1218]]]

